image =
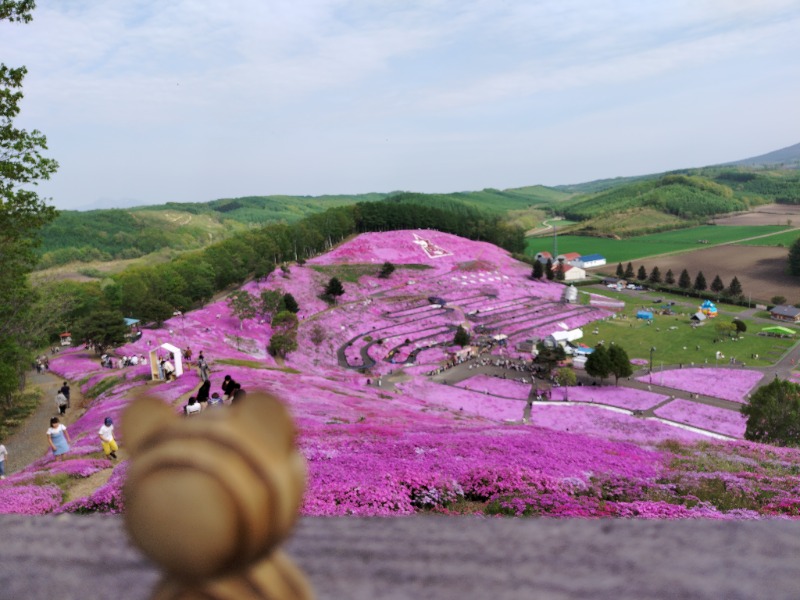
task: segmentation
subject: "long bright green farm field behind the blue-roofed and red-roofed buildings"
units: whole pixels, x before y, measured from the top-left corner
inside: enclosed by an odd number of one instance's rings
[[[558,237],[558,251],[560,254],[566,252],[602,254],[609,263],[615,263],[658,254],[688,252],[756,236],[779,233],[786,229],[787,227],[782,225],[703,225],[642,235],[626,240],[562,235]],[[707,240],[708,244],[700,244],[698,240]],[[525,252],[530,256],[543,250],[552,251],[552,249],[552,237],[543,236],[526,240]]]

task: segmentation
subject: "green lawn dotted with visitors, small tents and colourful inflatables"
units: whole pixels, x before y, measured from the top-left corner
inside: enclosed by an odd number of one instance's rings
[[[719,350],[725,355],[724,363],[731,356],[750,366],[769,366],[777,362],[781,356],[791,348],[797,340],[764,337],[756,335],[763,327],[768,325],[743,319],[747,325],[747,332],[739,340],[731,340],[727,335],[720,334],[714,324],[719,321],[730,322],[731,316],[724,314],[716,319],[709,319],[703,325],[692,328],[689,320],[692,310],[689,307],[676,307],[679,314],[674,316],[655,315],[653,324],[647,325],[643,320],[636,319],[636,311],[644,304],[648,308],[658,306],[653,302],[636,302],[625,294],[603,292],[604,296],[627,300],[625,309],[617,318],[607,321],[592,323],[583,328],[584,344],[594,346],[601,340],[605,344],[614,342],[628,352],[631,358],[644,358],[649,360],[650,348],[655,347],[653,353],[654,367],[664,365],[715,364],[716,352]],[[661,295],[659,296],[661,297]],[[664,295],[665,300],[667,299]],[[686,298],[678,297],[681,300]],[[698,304],[699,305],[699,304]],[[727,307],[723,307],[724,310]],[[597,331],[597,333],[594,333]],[[716,342],[714,340],[717,340]],[[758,359],[752,358],[754,354]]]

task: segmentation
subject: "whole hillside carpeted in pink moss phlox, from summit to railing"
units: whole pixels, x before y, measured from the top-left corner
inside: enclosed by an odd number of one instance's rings
[[[383,279],[387,261],[396,270]],[[228,374],[248,391],[281,398],[309,464],[305,514],[797,515],[800,453],[740,441],[738,413],[603,386],[554,390],[551,401],[533,403],[528,418],[530,374],[498,378],[492,364],[516,364],[525,355],[515,347],[525,340],[611,314],[562,304],[562,285],[529,273],[486,243],[427,230],[368,233],[243,287],[296,298],[298,349],[285,361],[267,352],[270,323],[240,323],[224,299],[145,329],[116,355],[188,346],[208,359],[212,391]],[[345,293],[330,305],[321,295],[334,276]],[[459,325],[475,336],[503,334],[505,345],[493,345],[488,370],[476,368],[474,376],[453,383],[430,377],[449,360]],[[177,381],[151,382],[147,366],[103,369],[83,348],[62,353],[51,369],[93,399],[70,425],[68,460],[42,457],[0,483],[0,513],[123,510],[125,461],[77,496],[64,474],[109,471],[96,436],[103,418],[119,423],[130,397],[141,393],[179,413],[200,385],[198,374],[189,368]],[[754,383],[726,393],[742,400]],[[647,410],[653,416],[637,414]],[[124,452],[124,439],[121,446]]]

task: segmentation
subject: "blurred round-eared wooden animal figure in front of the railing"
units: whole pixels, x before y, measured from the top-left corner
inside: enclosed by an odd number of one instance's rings
[[[306,480],[287,410],[249,394],[187,419],[139,398],[123,417],[131,453],[125,523],[165,576],[153,598],[306,599],[305,577],[278,550]]]

